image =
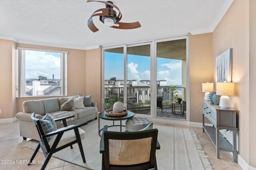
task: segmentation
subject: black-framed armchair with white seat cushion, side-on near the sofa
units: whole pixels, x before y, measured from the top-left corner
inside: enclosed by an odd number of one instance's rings
[[[46,168],[52,154],[54,154],[55,152],[58,152],[62,149],[65,149],[66,147],[70,147],[71,149],[73,149],[72,145],[74,145],[76,143],[78,143],[78,147],[79,147],[83,162],[84,163],[86,162],[85,157],[84,157],[84,150],[82,147],[81,137],[80,137],[80,135],[84,134],[85,132],[82,129],[80,129],[79,127],[87,125],[87,122],[80,123],[77,125],[68,126],[66,119],[74,117],[74,115],[67,116],[67,117],[61,117],[58,119],[54,119],[54,121],[55,122],[62,121],[64,127],[57,129],[56,131],[44,133],[43,127],[42,127],[39,119],[36,120],[36,118],[33,119],[33,117],[35,118],[34,113],[32,113],[31,118],[32,118],[32,122],[36,125],[36,129],[40,136],[40,142],[39,142],[38,146],[36,147],[34,154],[30,158],[30,162],[33,161],[33,159],[36,156],[36,153],[38,152],[38,150],[41,147],[42,152],[44,153],[44,157],[45,157],[45,161],[41,167],[41,170],[44,170]],[[47,137],[50,137],[50,136],[54,136],[54,137],[52,137],[50,139],[50,141],[48,141]],[[70,141],[70,138],[74,139],[74,140]],[[30,165],[30,163],[28,165]]]

